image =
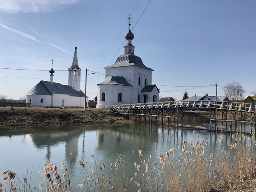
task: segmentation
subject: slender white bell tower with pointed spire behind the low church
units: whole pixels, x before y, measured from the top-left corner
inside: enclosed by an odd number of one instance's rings
[[[74,88],[75,90],[80,91],[81,69],[78,66],[76,49],[77,47],[75,47],[72,65],[70,68],[68,68],[68,85]]]

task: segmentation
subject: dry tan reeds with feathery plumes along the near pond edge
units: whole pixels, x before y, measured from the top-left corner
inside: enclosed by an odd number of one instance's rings
[[[194,132],[196,134],[196,132]],[[96,162],[92,154],[91,163],[78,161],[84,176],[81,176],[79,191],[150,191],[150,192],[198,192],[232,191],[239,188],[245,180],[255,176],[256,143],[251,138],[232,135],[232,142],[217,142],[216,154],[209,154],[208,144],[200,141],[199,135],[194,143],[184,141],[183,146],[170,149],[165,154],[158,152],[156,158],[144,157],[137,149],[136,162],[126,162],[120,154],[116,162]],[[155,144],[157,149],[157,144]],[[129,169],[129,171],[128,171]],[[62,163],[61,174],[56,164],[44,164],[43,179],[39,190],[46,192],[74,191],[68,170]],[[129,174],[130,173],[130,174]],[[32,192],[28,178],[20,180],[11,170],[6,170],[2,191]],[[242,190],[245,191],[245,190]]]

